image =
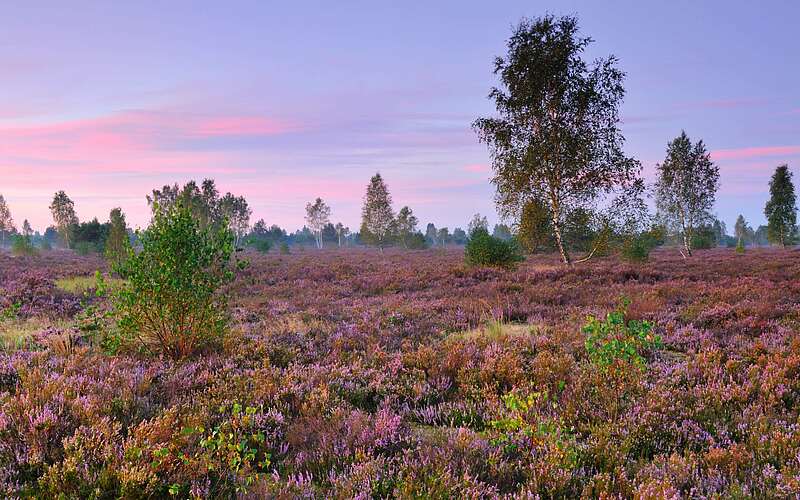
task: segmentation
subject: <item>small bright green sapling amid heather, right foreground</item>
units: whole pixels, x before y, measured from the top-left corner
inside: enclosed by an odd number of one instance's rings
[[[616,311],[606,315],[605,320],[589,316],[583,327],[589,359],[603,368],[617,361],[644,368],[646,363],[642,353],[662,346],[661,337],[653,333],[652,323],[625,318],[628,305],[629,301],[623,301]]]

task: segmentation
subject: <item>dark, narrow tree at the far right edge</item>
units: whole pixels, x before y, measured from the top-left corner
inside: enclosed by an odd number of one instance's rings
[[[797,200],[792,173],[787,165],[775,169],[769,181],[769,194],[769,201],[764,207],[767,237],[771,243],[791,245],[797,235]]]

